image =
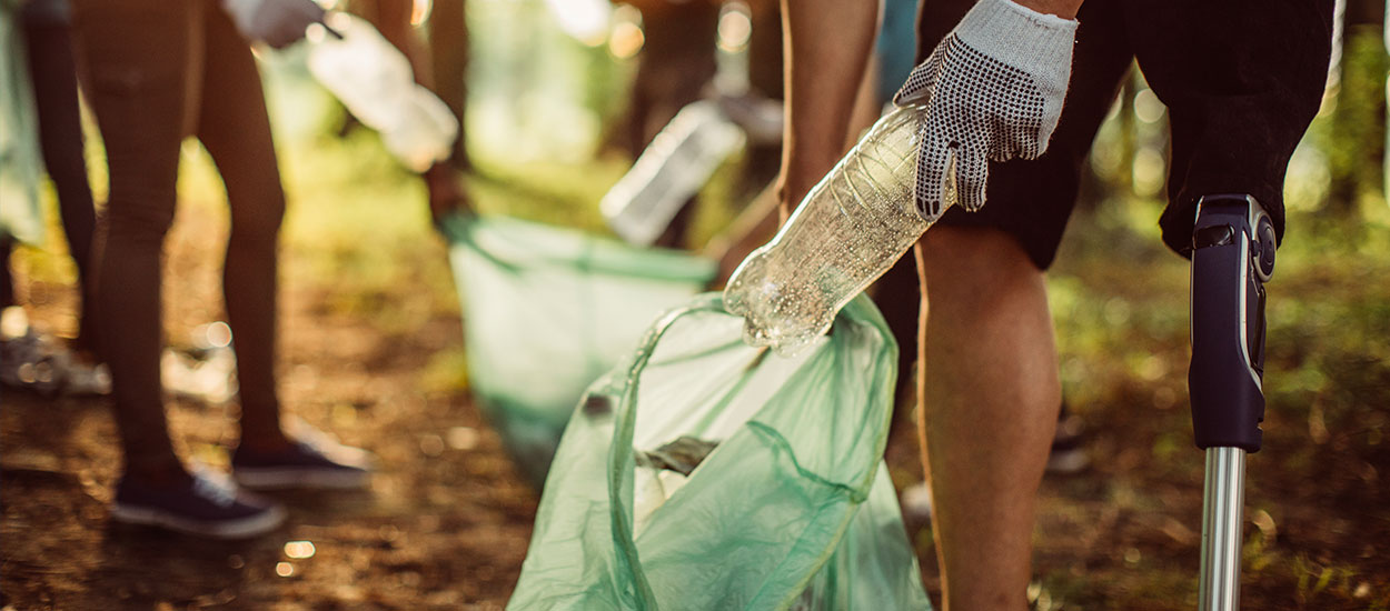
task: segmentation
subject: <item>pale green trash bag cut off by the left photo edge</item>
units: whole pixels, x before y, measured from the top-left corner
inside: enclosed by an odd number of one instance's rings
[[[19,29],[21,4],[0,0],[0,237],[40,246],[39,178],[43,165],[25,64],[28,51]]]

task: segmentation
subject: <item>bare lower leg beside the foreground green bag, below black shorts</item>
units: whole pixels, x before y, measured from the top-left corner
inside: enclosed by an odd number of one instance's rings
[[[926,296],[919,435],[944,608],[1017,611],[1061,401],[1042,272],[994,229],[933,228],[916,256]]]

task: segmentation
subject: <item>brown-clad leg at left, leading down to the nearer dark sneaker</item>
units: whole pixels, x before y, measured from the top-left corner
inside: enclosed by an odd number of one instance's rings
[[[97,254],[97,343],[111,367],[125,474],[188,480],[168,436],[160,383],[164,235],[174,222],[190,58],[202,54],[203,3],[81,0],[74,4],[88,100],[106,143],[111,193]]]

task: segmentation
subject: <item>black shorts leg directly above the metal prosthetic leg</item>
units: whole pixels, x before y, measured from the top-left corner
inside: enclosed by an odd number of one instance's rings
[[[1284,231],[1289,158],[1322,103],[1332,0],[1129,0],[1140,69],[1172,125],[1163,242],[1191,249],[1197,200],[1255,196]]]

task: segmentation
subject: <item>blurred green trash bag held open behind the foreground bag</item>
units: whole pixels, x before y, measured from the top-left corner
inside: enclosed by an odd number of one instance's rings
[[[448,222],[468,383],[513,458],[545,480],[574,404],[714,262],[507,217]]]

